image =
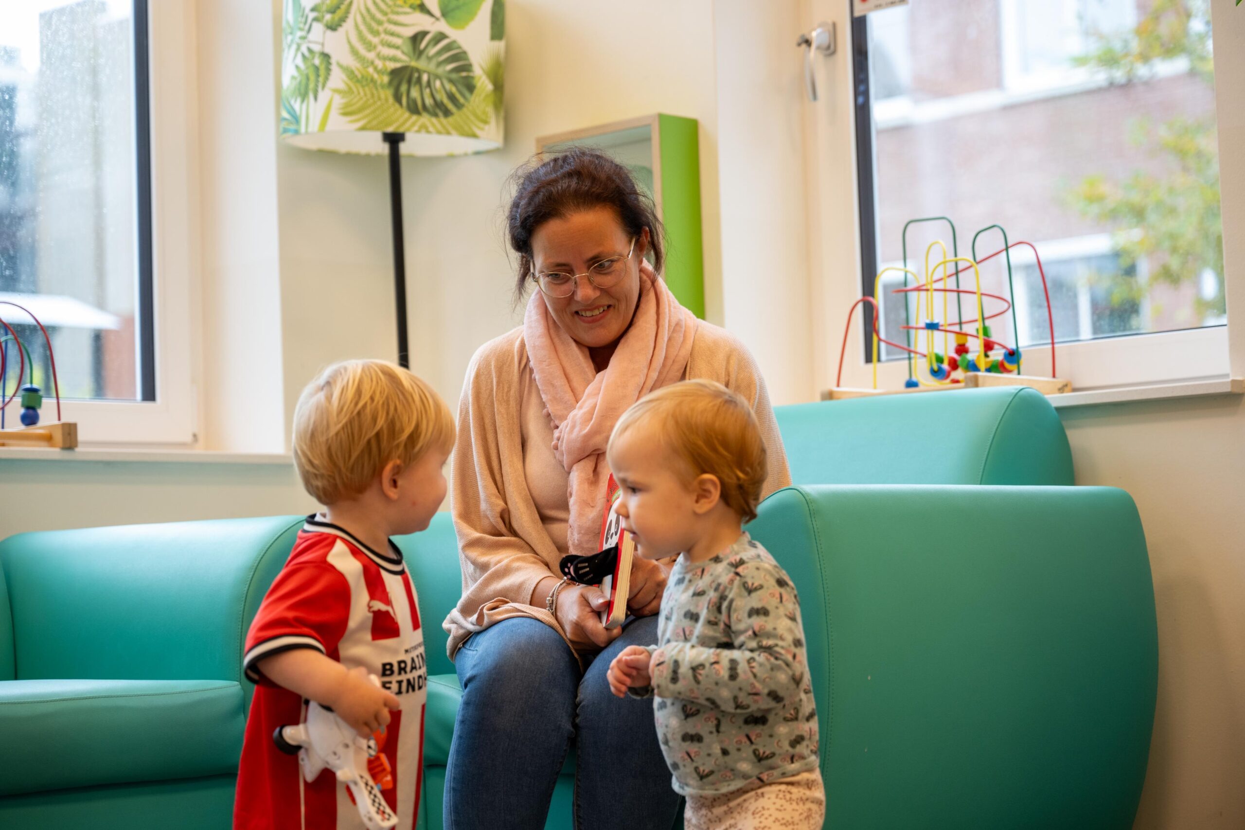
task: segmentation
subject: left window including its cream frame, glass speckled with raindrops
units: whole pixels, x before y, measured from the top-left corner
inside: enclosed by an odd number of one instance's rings
[[[87,444],[195,439],[192,11],[190,0],[0,2],[0,300],[47,326],[62,417]],[[0,314],[30,348],[54,421],[42,336],[12,306]]]

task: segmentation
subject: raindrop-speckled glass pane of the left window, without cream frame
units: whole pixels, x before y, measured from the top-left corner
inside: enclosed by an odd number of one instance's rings
[[[156,399],[141,6],[0,10],[0,299],[47,326],[62,397]],[[39,330],[0,309],[51,396]]]

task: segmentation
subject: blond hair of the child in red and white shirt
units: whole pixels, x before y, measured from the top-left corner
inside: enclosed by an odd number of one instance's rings
[[[390,462],[413,464],[454,444],[449,407],[431,386],[387,361],[334,363],[294,408],[294,464],[320,504],[359,495]]]

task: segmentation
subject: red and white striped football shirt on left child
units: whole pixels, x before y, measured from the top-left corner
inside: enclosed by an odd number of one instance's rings
[[[428,672],[418,604],[401,551],[390,543],[382,554],[336,525],[309,518],[259,606],[245,648],[243,667],[256,686],[238,769],[234,828],[362,828],[345,784],[330,770],[305,783],[298,757],[273,743],[278,727],[306,718],[306,706],[256,664],[291,648],[314,648],[346,668],[362,666],[402,701],[401,711],[391,713],[381,750],[393,774],[393,788],[383,795],[397,826],[413,828],[423,781]]]

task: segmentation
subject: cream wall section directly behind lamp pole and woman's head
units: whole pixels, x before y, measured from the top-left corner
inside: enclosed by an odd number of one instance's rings
[[[537,136],[651,112],[698,119],[707,314],[722,319],[710,0],[530,0],[505,12],[505,147],[401,162],[411,367],[451,404],[474,350],[522,319],[503,185]],[[289,414],[320,366],[392,358],[396,329],[385,158],[284,146],[276,158]]]

